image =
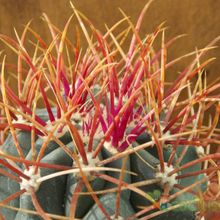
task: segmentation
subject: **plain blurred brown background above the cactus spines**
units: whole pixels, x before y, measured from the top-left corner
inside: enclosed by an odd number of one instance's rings
[[[73,2],[76,8],[86,14],[97,28],[105,30],[104,23],[111,26],[122,18],[118,7],[122,8],[135,22],[147,1],[75,0]],[[62,29],[72,14],[72,9],[69,0],[0,0],[0,32],[14,36],[13,28],[15,27],[21,34],[23,25],[33,19],[32,27],[49,42],[50,34],[47,26],[40,19],[43,12],[50,17],[55,25]],[[169,27],[166,39],[182,33],[188,35],[180,39],[170,49],[168,58],[172,59],[194,50],[195,47],[204,47],[220,35],[220,1],[155,0],[144,18],[141,32],[152,32],[163,21],[166,21],[166,26]],[[76,22],[75,18],[73,22]],[[209,55],[209,57],[217,57],[217,60],[207,67],[209,79],[213,80],[219,76],[220,49],[215,49]],[[182,62],[173,71],[182,70],[184,65],[185,63]],[[174,77],[175,74],[171,73]]]

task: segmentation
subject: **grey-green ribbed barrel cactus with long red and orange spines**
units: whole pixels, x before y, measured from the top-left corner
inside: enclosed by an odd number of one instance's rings
[[[74,43],[67,36],[73,16],[60,31],[43,15],[50,44],[30,24],[16,41],[0,35],[18,57],[16,67],[6,57],[1,65],[1,219],[203,217],[201,195],[219,175],[219,154],[209,149],[218,136],[213,92],[220,84],[207,85],[204,67],[212,59],[200,58],[218,38],[168,62],[167,50],[180,36],[166,42],[162,25],[139,36],[150,3],[136,25],[122,12],[106,33],[71,4],[86,50],[78,34]],[[115,35],[125,22],[128,28]],[[33,56],[28,34],[36,40]],[[185,57],[191,63],[167,85],[165,73]],[[17,88],[7,83],[11,72]],[[215,106],[206,126],[204,115]]]

